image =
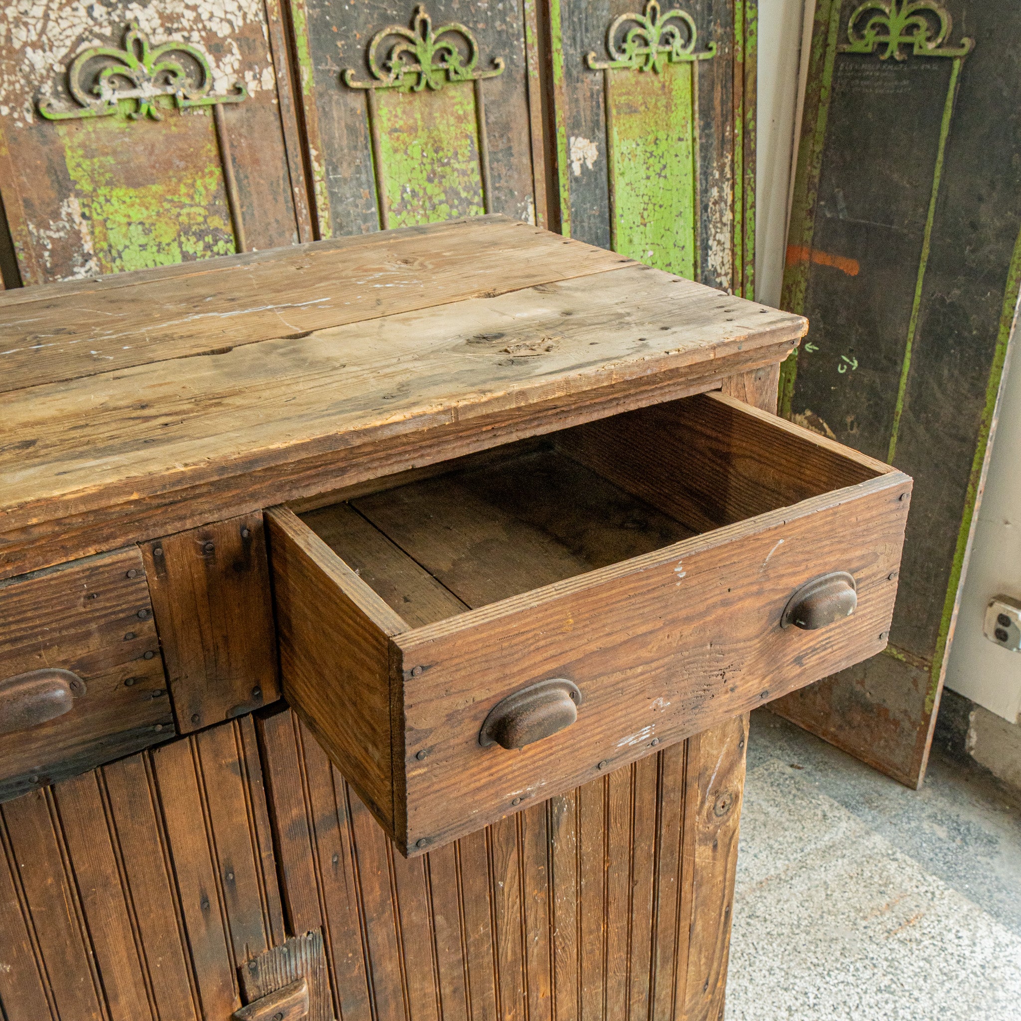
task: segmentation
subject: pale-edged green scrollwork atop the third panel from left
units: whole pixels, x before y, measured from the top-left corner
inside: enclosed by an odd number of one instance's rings
[[[606,29],[610,60],[596,60],[594,52],[589,52],[585,60],[593,70],[630,67],[659,74],[666,63],[687,63],[716,56],[716,43],[710,43],[700,53],[695,52],[697,35],[694,18],[687,11],[674,8],[664,14],[659,0],[648,0],[643,14],[621,14],[610,22]]]

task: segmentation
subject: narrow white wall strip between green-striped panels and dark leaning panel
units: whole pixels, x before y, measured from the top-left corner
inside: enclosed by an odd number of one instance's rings
[[[815,0],[808,0],[809,17]],[[759,126],[756,168],[756,297],[780,302],[806,0],[759,0]]]

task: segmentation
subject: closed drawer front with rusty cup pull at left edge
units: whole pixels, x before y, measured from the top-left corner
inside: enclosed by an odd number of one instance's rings
[[[0,722],[3,800],[174,735],[136,547],[0,583]]]

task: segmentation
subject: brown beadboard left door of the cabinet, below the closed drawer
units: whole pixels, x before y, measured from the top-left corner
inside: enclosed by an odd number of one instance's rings
[[[250,718],[0,807],[7,1021],[226,1021],[285,938]]]

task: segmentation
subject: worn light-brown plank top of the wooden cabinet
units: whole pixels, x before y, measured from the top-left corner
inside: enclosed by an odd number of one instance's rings
[[[0,577],[710,389],[805,330],[503,216],[4,294]]]

